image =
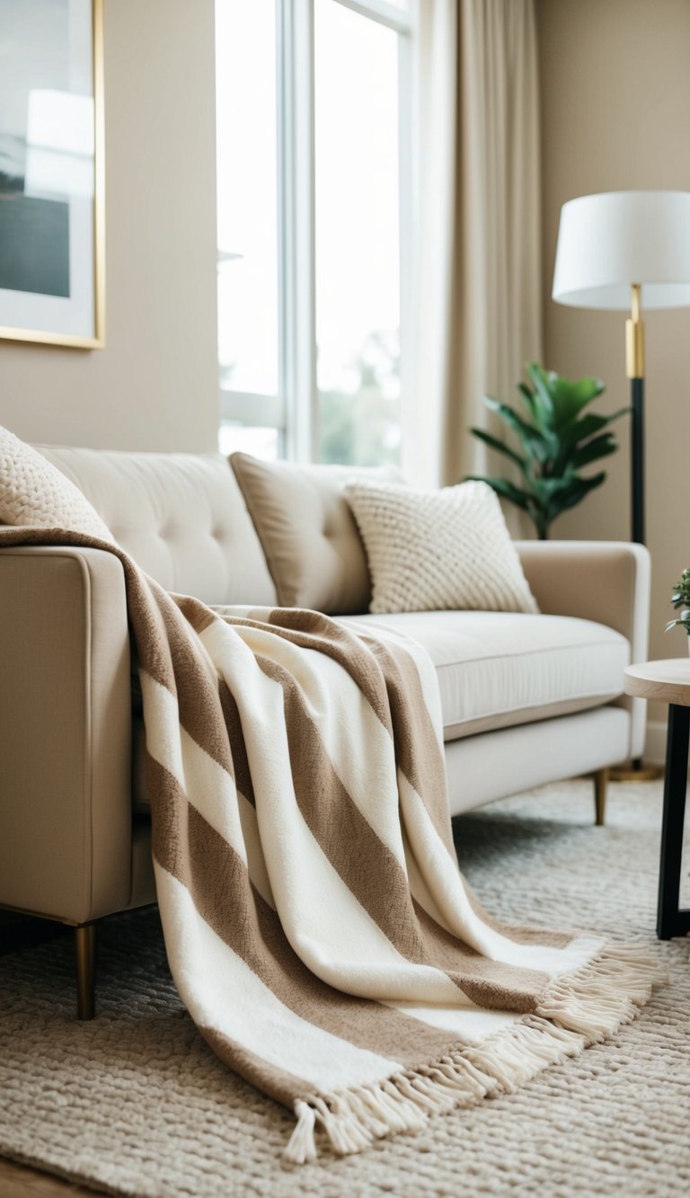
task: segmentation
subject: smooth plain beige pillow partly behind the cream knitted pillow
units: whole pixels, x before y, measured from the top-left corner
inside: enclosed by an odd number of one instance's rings
[[[260,461],[234,453],[230,462],[268,562],[282,607],[326,615],[362,613],[370,581],[364,546],[344,483],[350,466]],[[370,471],[379,478],[387,471]]]

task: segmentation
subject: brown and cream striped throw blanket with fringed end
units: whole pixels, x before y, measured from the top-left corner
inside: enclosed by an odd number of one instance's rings
[[[510,1091],[647,1000],[640,948],[500,925],[473,897],[413,642],[211,610],[93,538],[0,532],[37,541],[122,559],[172,976],[218,1055],[295,1112],[286,1160]]]

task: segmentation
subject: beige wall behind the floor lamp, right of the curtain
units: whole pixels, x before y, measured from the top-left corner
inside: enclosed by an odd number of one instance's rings
[[[555,304],[561,205],[589,192],[690,190],[690,4],[688,0],[537,0],[544,171],[545,358],[576,377],[599,375],[600,401],[629,403],[623,313]],[[653,601],[649,655],[686,652],[664,635],[668,594],[690,564],[690,308],[647,317],[647,543]],[[628,419],[609,479],[563,516],[553,536],[629,537]],[[662,715],[661,710],[652,712]]]

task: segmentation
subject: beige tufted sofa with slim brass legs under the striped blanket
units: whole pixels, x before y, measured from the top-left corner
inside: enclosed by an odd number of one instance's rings
[[[212,604],[277,603],[220,455],[41,448],[168,589]],[[280,470],[289,467],[278,470],[278,485]],[[290,477],[307,486],[297,530],[305,561],[316,563],[319,579],[329,562],[350,579],[363,551],[339,495],[341,472],[303,467]],[[431,654],[452,815],[593,773],[603,822],[606,768],[643,749],[644,704],[622,691],[623,667],[646,657],[648,555],[628,543],[518,547],[543,615],[350,611],[343,618],[402,628]],[[119,559],[95,549],[0,551],[0,906],[75,926],[78,1009],[86,1018],[93,922],[155,901]]]

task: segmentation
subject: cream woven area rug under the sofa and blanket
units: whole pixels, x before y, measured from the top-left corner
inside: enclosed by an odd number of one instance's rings
[[[498,918],[654,944],[660,807],[661,783],[612,785],[604,829],[587,782],[496,803],[456,822],[464,871]],[[290,1114],[183,1010],[157,913],[120,916],[101,932],[93,1023],[73,1017],[69,938],[0,960],[0,1154],[162,1198],[676,1196],[690,1190],[689,949],[658,946],[671,985],[612,1040],[416,1136],[295,1170],[279,1163]]]

